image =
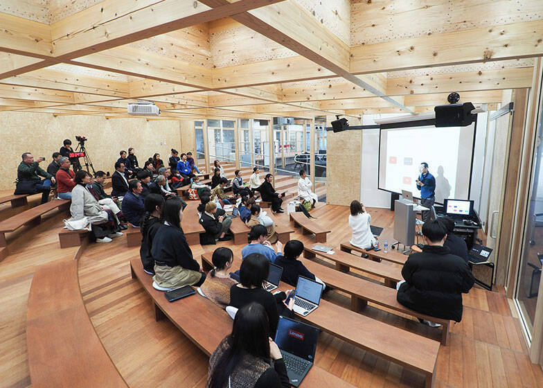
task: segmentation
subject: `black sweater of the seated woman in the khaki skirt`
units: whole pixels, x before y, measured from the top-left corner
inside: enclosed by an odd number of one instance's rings
[[[154,235],[151,255],[158,265],[181,266],[191,271],[200,270],[200,265],[194,260],[183,231],[166,224],[161,224]]]

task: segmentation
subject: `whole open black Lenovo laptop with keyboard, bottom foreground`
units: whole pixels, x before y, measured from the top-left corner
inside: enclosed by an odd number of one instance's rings
[[[279,317],[275,343],[281,350],[290,384],[298,387],[313,365],[319,329],[294,319]]]

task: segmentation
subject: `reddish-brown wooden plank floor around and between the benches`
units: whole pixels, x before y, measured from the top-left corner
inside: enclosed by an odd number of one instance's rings
[[[369,210],[372,224],[386,228],[382,240],[391,243],[392,213]],[[327,245],[339,247],[350,237],[346,207],[321,204],[312,214],[332,227]],[[53,213],[38,227],[19,232],[14,254],[0,262],[0,387],[30,386],[25,342],[28,290],[37,265],[71,260],[75,254],[75,248],[60,249],[57,233],[62,218],[63,214]],[[286,214],[277,218],[287,222]],[[313,242],[299,231],[294,237]],[[139,247],[128,249],[123,236],[113,243],[89,245],[80,258],[81,292],[100,340],[131,387],[205,387],[208,358],[170,321],[154,321],[150,299],[130,278],[128,261],[134,257],[139,257]],[[500,291],[474,288],[464,296],[463,320],[452,328],[449,346],[440,348],[436,387],[543,387],[542,369],[529,361],[519,321]],[[350,306],[340,292],[331,291],[326,299]],[[374,306],[364,314],[436,340],[440,337],[440,329]],[[424,382],[416,373],[325,333],[319,337],[315,360],[358,387],[422,387]]]

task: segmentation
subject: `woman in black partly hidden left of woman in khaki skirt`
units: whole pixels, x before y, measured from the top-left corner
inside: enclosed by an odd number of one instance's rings
[[[143,263],[143,270],[150,275],[154,275],[154,258],[151,255],[152,242],[154,236],[161,226],[160,218],[164,198],[159,194],[149,194],[145,197],[145,213],[141,220],[141,247],[139,257]]]

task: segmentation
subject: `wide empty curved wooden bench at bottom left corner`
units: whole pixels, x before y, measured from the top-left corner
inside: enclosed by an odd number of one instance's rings
[[[78,261],[57,261],[35,272],[26,349],[33,387],[128,387],[84,307]]]

